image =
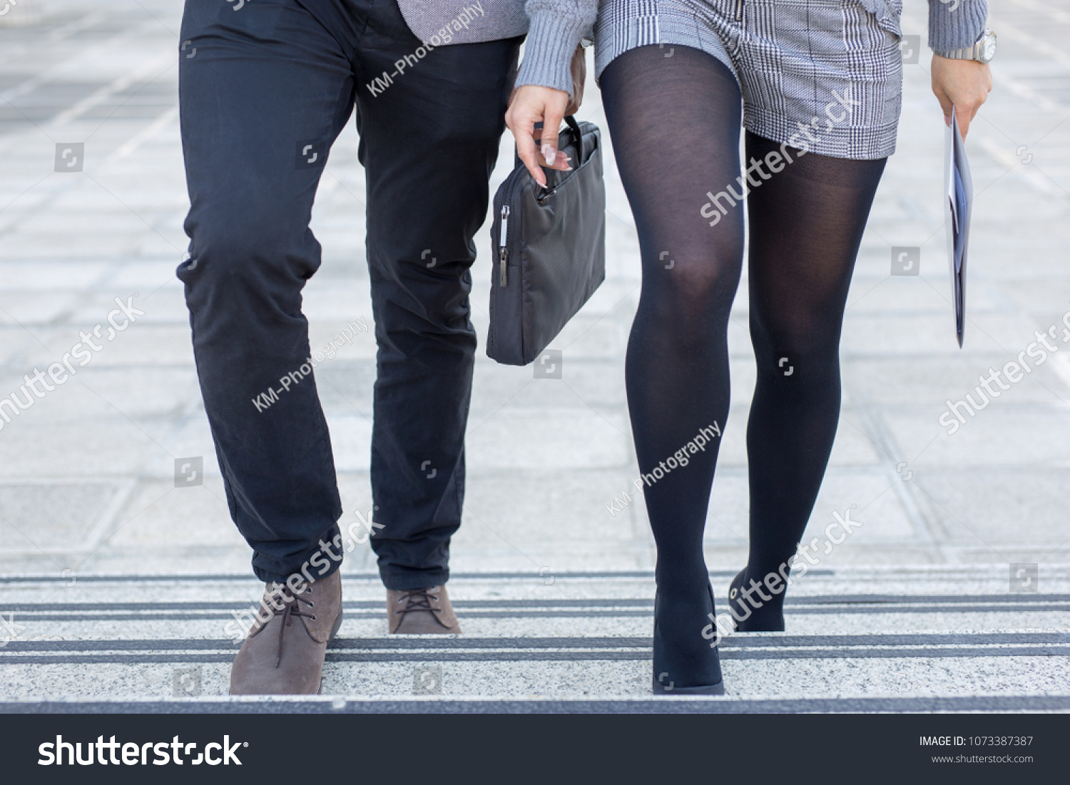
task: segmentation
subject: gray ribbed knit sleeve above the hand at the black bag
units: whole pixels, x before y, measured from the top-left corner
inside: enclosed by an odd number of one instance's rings
[[[598,0],[528,0],[531,27],[517,87],[541,84],[572,94],[569,63],[580,39],[594,25]]]

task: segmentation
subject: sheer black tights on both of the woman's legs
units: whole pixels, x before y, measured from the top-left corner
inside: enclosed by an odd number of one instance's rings
[[[658,47],[626,52],[606,70],[601,89],[643,258],[626,375],[639,467],[651,474],[701,428],[723,429],[729,412],[725,330],[743,265],[744,215],[742,204],[723,197],[723,215],[707,206],[707,191],[731,186],[743,195],[740,95],[722,63],[679,46],[672,58]],[[750,133],[746,142],[748,161],[781,152]],[[751,170],[759,184],[747,197],[758,361],[747,428],[748,581],[780,571],[794,555],[825,473],[840,411],[847,287],[885,164],[783,152],[792,163],[773,156],[771,166],[782,169],[773,173],[763,164],[768,179]],[[698,629],[692,622],[709,624],[699,587],[708,582],[702,534],[719,442],[688,452],[687,466],[644,490],[658,592],[676,603],[686,632]],[[783,629],[782,602],[775,596],[740,628]]]

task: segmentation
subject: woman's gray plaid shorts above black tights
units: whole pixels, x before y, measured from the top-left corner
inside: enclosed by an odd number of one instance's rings
[[[834,158],[896,152],[902,0],[601,0],[595,77],[640,46],[701,49],[739,83],[744,126]]]

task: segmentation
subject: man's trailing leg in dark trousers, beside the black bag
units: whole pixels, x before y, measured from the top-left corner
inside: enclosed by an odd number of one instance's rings
[[[476,348],[472,238],[487,213],[520,42],[426,51],[396,3],[379,6],[371,27],[356,73],[379,344],[371,486],[384,527],[372,548],[386,588],[407,591],[445,583],[460,525]],[[367,87],[407,55],[386,89]]]

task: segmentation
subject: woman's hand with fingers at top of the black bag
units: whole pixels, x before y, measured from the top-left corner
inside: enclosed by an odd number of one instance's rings
[[[509,108],[505,112],[505,124],[517,140],[517,155],[528,167],[535,182],[546,187],[546,175],[541,167],[568,171],[568,158],[557,150],[557,130],[566,114],[575,114],[583,101],[583,83],[586,81],[587,61],[582,47],[577,47],[569,63],[572,75],[572,95],[544,88],[524,84],[515,89],[509,96]],[[535,123],[542,123],[536,132]],[[536,136],[538,133],[539,136]],[[535,141],[541,141],[536,149]]]

